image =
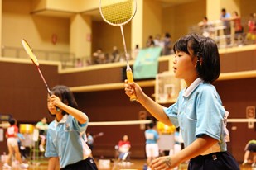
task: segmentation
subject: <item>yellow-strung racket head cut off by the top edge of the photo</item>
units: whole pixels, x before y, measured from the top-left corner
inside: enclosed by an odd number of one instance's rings
[[[127,24],[133,19],[136,11],[136,0],[99,0],[100,15],[112,26]]]

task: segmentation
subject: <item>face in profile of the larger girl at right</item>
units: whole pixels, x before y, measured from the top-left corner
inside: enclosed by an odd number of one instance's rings
[[[192,57],[183,51],[176,51],[173,60],[173,72],[176,78],[184,79],[186,85],[190,85],[198,77],[196,57]]]

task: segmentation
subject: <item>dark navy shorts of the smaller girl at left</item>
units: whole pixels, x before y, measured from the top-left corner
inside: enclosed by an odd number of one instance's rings
[[[98,170],[98,168],[94,158],[88,157],[80,162],[67,165],[65,168],[61,168],[61,170]]]

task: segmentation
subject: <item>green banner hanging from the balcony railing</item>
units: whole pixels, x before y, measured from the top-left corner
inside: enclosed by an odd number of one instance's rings
[[[152,47],[140,49],[133,64],[133,78],[146,79],[156,78],[158,72],[158,57],[162,48]]]

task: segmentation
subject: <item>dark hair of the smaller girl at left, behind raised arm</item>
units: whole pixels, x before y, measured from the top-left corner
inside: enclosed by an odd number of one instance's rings
[[[63,85],[57,85],[51,89],[51,92],[55,94],[57,97],[60,97],[61,102],[64,102],[66,105],[78,108],[78,105],[75,101],[75,97],[73,93],[70,91],[69,87]],[[65,111],[62,112],[62,115],[68,114]]]

